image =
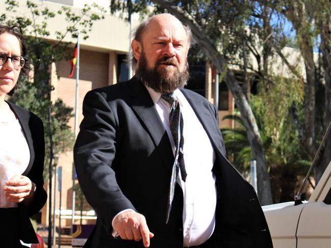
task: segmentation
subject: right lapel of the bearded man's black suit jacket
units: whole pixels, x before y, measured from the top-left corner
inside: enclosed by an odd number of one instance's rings
[[[210,141],[214,145],[214,147],[223,154],[222,152],[222,147],[219,142],[219,135],[217,134],[216,131],[219,130],[219,127],[215,125],[215,121],[213,121],[214,116],[211,116],[210,112],[208,109],[204,108],[204,103],[201,100],[194,99],[190,97],[185,90],[181,89],[181,92],[187,99],[188,103],[191,105],[192,109],[196,113],[198,119],[200,120],[203,128],[205,129],[207,135],[209,136]],[[216,137],[218,138],[216,140]]]

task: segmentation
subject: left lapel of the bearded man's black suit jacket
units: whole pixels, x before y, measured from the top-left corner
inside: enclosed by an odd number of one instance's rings
[[[156,111],[155,105],[147,89],[139,80],[132,78],[130,83],[132,86],[129,92],[129,103],[150,133],[163,162],[171,171],[174,160],[173,151],[168,134]],[[169,154],[172,156],[169,156]]]

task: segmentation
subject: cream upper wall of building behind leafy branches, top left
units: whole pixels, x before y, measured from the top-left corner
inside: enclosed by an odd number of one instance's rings
[[[86,0],[84,0],[87,2]],[[5,1],[1,1],[0,4],[0,14],[6,14],[7,18],[15,19],[17,16],[30,18],[33,20],[33,16],[31,11],[26,6],[26,0],[17,0],[18,8],[16,12],[7,11]],[[44,8],[48,8],[49,11],[56,14],[54,18],[49,18],[46,20],[47,22],[47,30],[49,31],[49,36],[43,37],[50,41],[56,41],[57,35],[56,32],[66,32],[66,27],[68,25],[72,25],[72,23],[68,22],[65,14],[57,14],[59,10],[64,6],[58,3],[51,3],[48,1],[31,1],[38,6],[39,10],[43,10]],[[65,0],[59,2],[67,2]],[[68,1],[78,3],[76,1]],[[97,2],[97,1],[96,1]],[[73,4],[75,4],[73,3]],[[90,1],[92,4],[93,1]],[[77,4],[78,5],[78,4]],[[69,6],[70,7],[70,6]],[[71,11],[76,15],[81,15],[81,9],[78,7],[71,6]],[[130,33],[130,25],[125,20],[109,15],[103,14],[100,12],[94,12],[99,16],[104,16],[104,19],[97,20],[93,23],[93,27],[90,32],[88,32],[89,38],[86,40],[82,39],[83,35],[80,35],[80,44],[82,48],[93,51],[117,51],[121,53],[127,53],[129,50],[129,33]],[[88,17],[86,17],[88,18]],[[38,16],[35,20],[36,24],[41,25],[44,21],[42,16]],[[140,23],[140,19],[136,15],[132,15],[132,28],[134,28],[137,24]],[[84,27],[77,25],[78,30],[82,30]],[[28,34],[29,35],[29,34]],[[31,32],[31,35],[34,33]],[[76,39],[72,38],[70,34],[67,34],[63,39],[65,42],[71,42],[73,44],[76,43]]]

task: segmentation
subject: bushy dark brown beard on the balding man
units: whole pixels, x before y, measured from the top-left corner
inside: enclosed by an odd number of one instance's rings
[[[183,88],[187,84],[189,78],[187,59],[182,71],[178,70],[178,62],[172,59],[173,63],[176,63],[177,70],[172,76],[168,76],[166,68],[162,68],[159,71],[157,67],[160,63],[171,60],[170,57],[163,57],[158,59],[154,65],[154,68],[148,68],[147,59],[145,53],[141,53],[141,59],[138,61],[138,69],[136,70],[136,77],[140,79],[146,86],[151,87],[156,92],[161,94],[171,93],[177,88]]]

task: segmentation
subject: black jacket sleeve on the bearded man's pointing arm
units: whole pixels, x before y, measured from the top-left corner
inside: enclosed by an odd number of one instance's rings
[[[81,190],[110,236],[114,216],[124,209],[135,210],[119,188],[112,169],[118,119],[97,91],[86,95],[83,115],[74,146],[74,164]]]

